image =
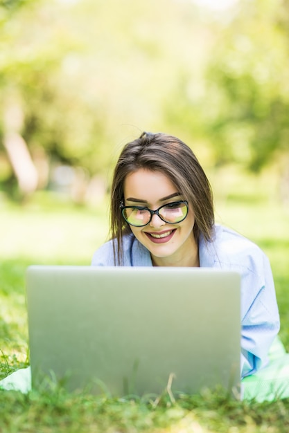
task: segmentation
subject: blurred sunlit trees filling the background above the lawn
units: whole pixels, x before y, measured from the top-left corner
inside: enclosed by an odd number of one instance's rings
[[[1,0],[0,200],[95,204],[146,130],[288,204],[288,51],[288,0]]]

